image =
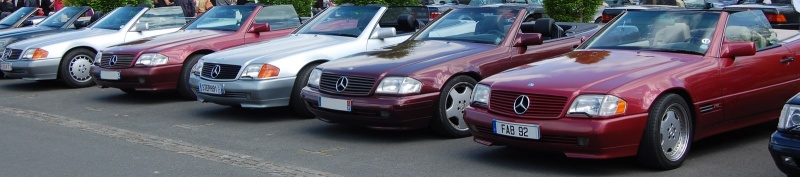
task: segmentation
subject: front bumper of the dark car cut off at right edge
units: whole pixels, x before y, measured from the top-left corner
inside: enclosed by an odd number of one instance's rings
[[[769,154],[781,172],[787,176],[800,176],[800,136],[775,131],[769,141]],[[784,161],[792,158],[791,162]],[[795,166],[790,165],[794,163]]]

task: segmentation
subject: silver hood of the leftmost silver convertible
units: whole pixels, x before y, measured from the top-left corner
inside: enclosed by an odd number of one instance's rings
[[[9,45],[9,47],[15,49],[24,49],[28,47],[43,47],[50,44],[56,44],[65,41],[78,40],[88,37],[98,37],[107,34],[114,34],[116,32],[118,32],[118,30],[85,28],[77,31],[70,31],[70,32],[64,32],[59,34],[53,34],[53,35],[23,40],[13,43]],[[111,39],[111,40],[120,40],[120,39]]]

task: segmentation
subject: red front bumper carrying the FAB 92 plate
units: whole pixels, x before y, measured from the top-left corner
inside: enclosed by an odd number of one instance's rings
[[[470,126],[475,142],[480,144],[562,152],[571,158],[609,159],[636,155],[647,113],[612,119],[519,119],[468,107],[464,120]],[[493,120],[538,124],[540,139],[495,134]]]

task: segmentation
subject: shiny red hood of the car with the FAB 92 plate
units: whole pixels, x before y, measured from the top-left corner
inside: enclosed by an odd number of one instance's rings
[[[481,81],[493,90],[546,93],[608,93],[636,79],[700,61],[701,56],[665,52],[581,50],[534,62]],[[529,86],[529,85],[533,86]]]

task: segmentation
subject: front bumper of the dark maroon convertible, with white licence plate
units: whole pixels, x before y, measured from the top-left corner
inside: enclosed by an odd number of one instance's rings
[[[320,96],[351,100],[351,111],[320,108]],[[319,90],[310,87],[305,87],[302,91],[306,106],[322,121],[401,130],[427,127],[436,114],[438,96],[437,92],[402,97],[349,97],[320,93]]]

